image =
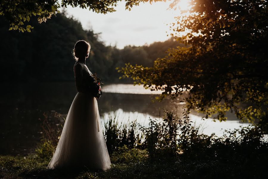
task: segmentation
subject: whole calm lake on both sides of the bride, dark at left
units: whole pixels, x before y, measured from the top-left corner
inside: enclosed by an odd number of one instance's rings
[[[56,111],[67,114],[77,93],[72,82],[53,83],[14,83],[1,85],[1,120],[0,120],[0,155],[27,155],[34,151],[41,137],[40,118],[43,113]],[[161,92],[145,90],[143,86],[132,84],[107,84],[102,87],[103,95],[98,100],[101,122],[108,115],[116,114],[119,121],[137,120],[147,126],[149,118],[163,116],[163,109],[181,113],[184,103],[178,100],[163,100],[152,102],[155,95]],[[201,124],[203,133],[222,135],[225,129],[235,129],[247,126],[241,123],[235,115],[228,113],[224,122],[213,119],[202,120],[202,114],[193,112],[190,118]]]

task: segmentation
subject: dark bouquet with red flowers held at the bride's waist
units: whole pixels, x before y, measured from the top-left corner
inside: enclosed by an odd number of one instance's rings
[[[100,78],[98,78],[97,74],[94,73],[94,75],[92,75],[89,79],[88,88],[95,98],[99,99],[102,96],[101,85],[103,85],[103,83],[100,82]]]

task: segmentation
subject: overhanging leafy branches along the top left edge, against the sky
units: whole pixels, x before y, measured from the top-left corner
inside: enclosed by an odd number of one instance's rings
[[[3,0],[0,1],[0,16],[4,16],[10,22],[9,30],[31,32],[33,27],[29,21],[32,16],[37,16],[39,23],[46,22],[52,15],[56,15],[60,7],[67,7],[67,5],[106,14],[116,11],[114,7],[117,6],[118,1],[121,0],[62,0],[60,4],[59,0]],[[134,5],[137,6],[140,2],[147,1],[152,3],[162,0],[125,0],[126,10],[131,10]]]

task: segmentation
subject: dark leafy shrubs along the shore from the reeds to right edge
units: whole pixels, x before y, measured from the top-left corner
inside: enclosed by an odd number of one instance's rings
[[[150,119],[149,127],[143,127],[145,148],[151,159],[186,156],[194,159],[229,158],[231,155],[245,155],[268,149],[266,130],[262,125],[226,130],[224,135],[205,135],[196,126],[184,109],[183,118],[166,111],[163,121]],[[235,154],[234,154],[235,153]]]

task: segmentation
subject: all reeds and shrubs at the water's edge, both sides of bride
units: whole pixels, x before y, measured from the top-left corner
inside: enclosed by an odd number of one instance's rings
[[[110,113],[103,124],[108,152],[110,155],[114,153],[115,162],[124,163],[138,160],[147,152],[149,158],[155,160],[174,158],[181,154],[192,158],[228,157],[233,155],[233,152],[247,155],[255,150],[262,152],[268,149],[268,141],[265,137],[267,131],[263,125],[250,125],[234,131],[226,130],[223,136],[217,137],[214,134],[203,134],[202,126],[193,123],[188,115],[186,109],[182,117],[177,113],[165,111],[163,120],[149,118],[149,126],[141,126],[136,121],[119,122],[118,116]],[[43,140],[36,150],[42,158],[45,157],[43,153],[51,156],[51,151],[56,148],[64,122],[59,121],[63,117],[57,112],[44,116]],[[46,122],[47,119],[54,121],[54,124]],[[142,152],[143,149],[147,152]],[[121,152],[124,153],[122,158],[117,157]]]

